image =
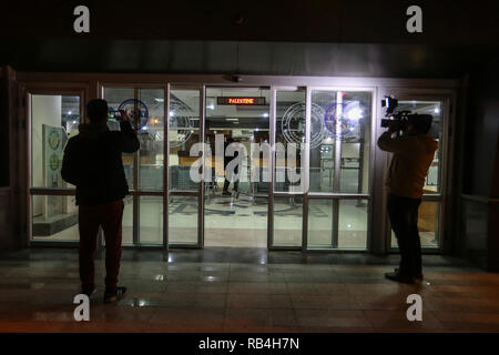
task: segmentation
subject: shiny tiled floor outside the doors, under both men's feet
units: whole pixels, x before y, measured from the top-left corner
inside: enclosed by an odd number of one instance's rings
[[[32,248],[0,255],[0,332],[499,332],[499,274],[425,256],[425,281],[383,277],[398,256],[258,248],[124,251],[128,295],[92,298],[74,322],[78,253]],[[96,282],[104,264],[98,253]],[[422,297],[422,322],[406,297]]]

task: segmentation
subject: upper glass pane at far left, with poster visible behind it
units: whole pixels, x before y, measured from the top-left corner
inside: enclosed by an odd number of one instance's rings
[[[31,186],[72,186],[62,180],[61,168],[65,143],[78,134],[80,97],[33,94],[31,120]]]

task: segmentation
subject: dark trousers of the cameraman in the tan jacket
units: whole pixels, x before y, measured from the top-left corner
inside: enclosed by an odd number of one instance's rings
[[[399,273],[418,276],[422,272],[418,209],[421,200],[388,193],[388,216],[400,251]]]

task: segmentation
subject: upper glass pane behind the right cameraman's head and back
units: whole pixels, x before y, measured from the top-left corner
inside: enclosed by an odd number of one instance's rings
[[[442,153],[442,134],[444,134],[444,121],[442,121],[442,101],[399,101],[397,110],[407,110],[413,113],[431,114],[434,121],[430,129],[430,134],[438,141],[438,149],[435,152],[434,161],[428,169],[428,174],[425,180],[424,193],[434,194],[440,192],[441,181],[441,153]]]

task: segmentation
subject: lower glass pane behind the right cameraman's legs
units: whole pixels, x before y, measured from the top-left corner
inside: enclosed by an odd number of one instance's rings
[[[440,214],[440,202],[422,201],[418,210],[418,231],[422,247],[438,247],[439,233],[438,223]],[[398,247],[397,239],[391,231],[391,247]]]

